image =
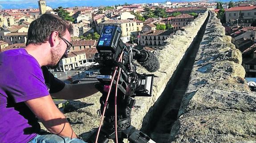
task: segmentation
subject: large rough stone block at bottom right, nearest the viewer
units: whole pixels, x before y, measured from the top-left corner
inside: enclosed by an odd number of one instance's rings
[[[256,141],[256,112],[192,110],[172,128],[169,143],[238,143]]]

